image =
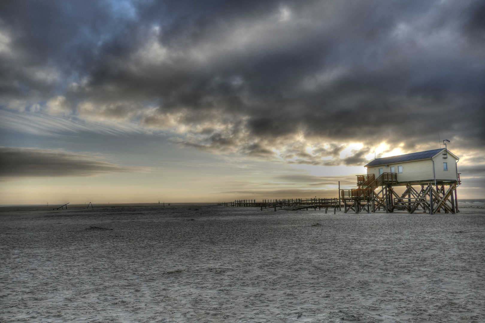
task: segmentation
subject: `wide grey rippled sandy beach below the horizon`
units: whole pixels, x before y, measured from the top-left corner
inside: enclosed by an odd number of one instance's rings
[[[0,322],[485,322],[484,259],[481,207],[4,208]]]

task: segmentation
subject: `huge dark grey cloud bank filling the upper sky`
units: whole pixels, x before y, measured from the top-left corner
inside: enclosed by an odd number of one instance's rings
[[[438,132],[482,154],[484,12],[478,0],[2,2],[0,104],[293,164],[362,165],[381,142],[436,148]],[[341,156],[349,143],[362,147]]]

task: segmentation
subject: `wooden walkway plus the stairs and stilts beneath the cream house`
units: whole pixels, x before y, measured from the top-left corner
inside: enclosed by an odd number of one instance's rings
[[[460,181],[397,181],[396,173],[382,173],[379,177],[374,174],[357,175],[356,189],[339,190],[339,198],[332,199],[281,199],[281,200],[234,200],[233,202],[219,203],[231,207],[258,207],[263,210],[275,211],[297,210],[337,210],[343,207],[344,213],[371,213],[385,211],[393,213],[395,210],[404,210],[409,214],[421,210],[423,213],[435,214],[439,212],[453,213],[458,210],[456,188]],[[393,186],[406,186],[403,194],[399,195]],[[414,186],[419,185],[416,189]]]

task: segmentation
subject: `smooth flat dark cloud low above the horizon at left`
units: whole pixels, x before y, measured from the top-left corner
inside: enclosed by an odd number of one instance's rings
[[[0,147],[0,177],[93,176],[139,170],[64,151]]]

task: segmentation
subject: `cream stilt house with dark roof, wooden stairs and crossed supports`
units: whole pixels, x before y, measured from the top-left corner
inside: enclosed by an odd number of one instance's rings
[[[458,213],[456,187],[461,184],[456,163],[460,158],[445,148],[376,158],[357,175],[357,189],[341,190],[344,212],[386,213],[417,210]],[[415,188],[413,186],[420,186]],[[399,195],[394,186],[406,186]]]

